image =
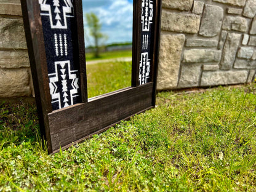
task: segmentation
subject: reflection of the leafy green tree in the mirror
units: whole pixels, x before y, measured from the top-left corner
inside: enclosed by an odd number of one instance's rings
[[[103,43],[100,43],[100,41],[106,41],[108,36],[101,32],[102,23],[100,23],[97,15],[93,12],[86,14],[86,20],[90,35],[94,38],[94,56],[100,57],[100,46],[103,46]]]

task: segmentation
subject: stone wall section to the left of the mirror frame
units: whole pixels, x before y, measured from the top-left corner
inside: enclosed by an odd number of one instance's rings
[[[32,95],[20,0],[0,0],[0,97]]]

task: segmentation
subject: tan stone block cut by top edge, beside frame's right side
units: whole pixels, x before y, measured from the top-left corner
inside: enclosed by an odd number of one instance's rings
[[[168,9],[178,9],[178,10],[190,10],[193,4],[193,0],[163,0],[162,7]]]

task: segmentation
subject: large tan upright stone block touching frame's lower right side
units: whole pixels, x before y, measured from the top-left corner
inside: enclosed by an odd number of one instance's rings
[[[184,43],[184,34],[161,34],[158,64],[158,90],[177,87]]]

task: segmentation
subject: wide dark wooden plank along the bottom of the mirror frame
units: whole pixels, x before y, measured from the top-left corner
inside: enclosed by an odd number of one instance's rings
[[[130,87],[49,116],[53,151],[152,106],[153,83]]]

